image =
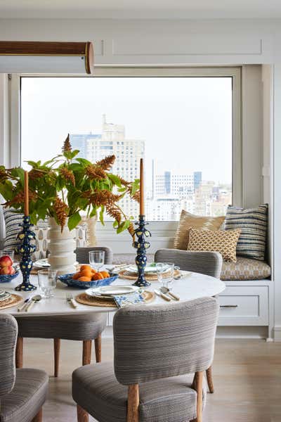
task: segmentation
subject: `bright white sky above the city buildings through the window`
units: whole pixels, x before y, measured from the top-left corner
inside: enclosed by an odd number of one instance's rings
[[[57,155],[70,134],[100,133],[102,116],[145,140],[146,177],[202,171],[231,183],[230,77],[24,77],[22,161]]]

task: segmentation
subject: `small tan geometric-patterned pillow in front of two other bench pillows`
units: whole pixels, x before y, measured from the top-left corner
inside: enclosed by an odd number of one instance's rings
[[[241,229],[202,230],[190,229],[188,250],[220,252],[224,261],[236,262],[236,245]]]

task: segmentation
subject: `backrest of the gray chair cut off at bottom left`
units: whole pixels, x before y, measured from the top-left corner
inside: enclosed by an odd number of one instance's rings
[[[18,324],[8,314],[0,314],[0,398],[13,390],[15,383],[15,344]]]

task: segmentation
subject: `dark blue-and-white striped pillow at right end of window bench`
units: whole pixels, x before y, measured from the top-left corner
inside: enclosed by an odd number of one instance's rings
[[[241,229],[236,253],[241,257],[264,260],[268,228],[268,205],[243,208],[228,205],[225,229]]]

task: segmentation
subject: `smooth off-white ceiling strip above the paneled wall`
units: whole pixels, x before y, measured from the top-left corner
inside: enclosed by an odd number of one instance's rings
[[[281,0],[0,0],[0,18],[281,18]]]

